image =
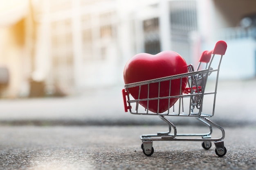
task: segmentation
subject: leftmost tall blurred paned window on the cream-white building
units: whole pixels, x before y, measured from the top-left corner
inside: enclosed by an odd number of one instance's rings
[[[72,87],[74,83],[74,56],[72,19],[66,18],[51,23],[52,79]]]

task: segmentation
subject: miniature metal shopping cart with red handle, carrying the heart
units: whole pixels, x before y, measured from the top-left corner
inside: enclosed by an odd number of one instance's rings
[[[157,132],[155,135],[140,136],[142,141],[141,149],[146,156],[150,156],[154,153],[153,141],[201,141],[202,147],[206,150],[211,148],[211,142],[214,142],[216,155],[222,157],[227,153],[223,141],[225,137],[224,129],[208,119],[214,115],[220,63],[226,49],[226,42],[218,41],[213,50],[204,51],[202,53],[196,70],[194,70],[193,65],[188,65],[187,67],[189,71],[187,73],[156,78],[148,81],[129,83],[124,86],[125,89],[123,89],[122,93],[126,112],[129,110],[130,113],[135,115],[159,116],[168,124],[169,131],[167,132]],[[205,65],[205,68],[201,69],[203,65]],[[183,91],[180,90],[179,95],[171,96],[169,93],[168,96],[164,97],[159,95],[154,98],[149,97],[150,90],[152,90],[149,87],[152,83],[158,83],[158,94],[160,94],[159,91],[161,89],[162,82],[169,81],[169,91],[171,91],[171,82],[173,80],[181,81],[182,78],[187,78],[188,83]],[[141,88],[145,86],[148,86],[148,98],[138,97],[135,99],[129,93],[129,89],[131,88],[136,87],[140,91]],[[180,83],[180,89],[181,88]],[[139,105],[141,101],[146,101],[147,103],[150,101],[157,101],[157,107],[159,108],[161,100],[171,100],[173,98],[176,98],[177,101],[163,113],[159,113],[159,109],[157,109],[157,112],[155,113],[150,111],[148,107],[142,107]],[[211,103],[211,107],[209,107],[209,101]],[[205,108],[203,107],[204,102],[207,102],[207,107]],[[209,128],[209,133],[177,134],[176,126],[166,118],[167,116],[195,117],[199,122],[206,125],[207,129]],[[211,138],[213,127],[221,131],[221,137]]]

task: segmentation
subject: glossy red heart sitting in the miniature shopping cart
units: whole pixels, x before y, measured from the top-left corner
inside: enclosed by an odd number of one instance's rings
[[[124,83],[135,83],[155,78],[172,76],[188,72],[186,61],[176,52],[163,51],[155,55],[140,53],[132,57],[124,67]],[[181,94],[186,87],[188,78],[182,78]],[[169,82],[160,83],[160,97],[169,96]],[[158,97],[158,83],[151,83],[149,86],[149,98]],[[141,86],[139,95],[139,87],[131,87],[128,89],[133,98],[148,98],[148,85]],[[180,78],[171,81],[171,96],[180,95]],[[178,100],[178,98],[170,99],[170,107]],[[159,111],[157,111],[157,100],[149,100],[148,110],[155,113],[163,113],[168,109],[168,99],[159,100]],[[140,101],[140,105],[147,108],[147,101]]]

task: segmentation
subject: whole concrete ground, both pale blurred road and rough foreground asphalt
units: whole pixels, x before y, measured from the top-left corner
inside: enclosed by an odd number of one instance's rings
[[[210,118],[226,132],[227,154],[201,142],[153,142],[146,157],[139,135],[167,131],[157,116],[125,113],[122,87],[65,98],[0,100],[0,169],[256,169],[256,80],[220,81]],[[204,103],[204,107],[212,103]],[[169,117],[178,133],[207,131],[193,118]],[[220,132],[213,129],[212,137]]]

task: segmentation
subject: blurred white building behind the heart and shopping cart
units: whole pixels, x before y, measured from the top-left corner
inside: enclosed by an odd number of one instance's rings
[[[256,1],[33,2],[35,58],[28,61],[33,80],[44,82],[49,92],[123,85],[124,65],[139,52],[173,50],[196,64],[201,52],[220,39],[228,44],[220,78],[256,73]]]

